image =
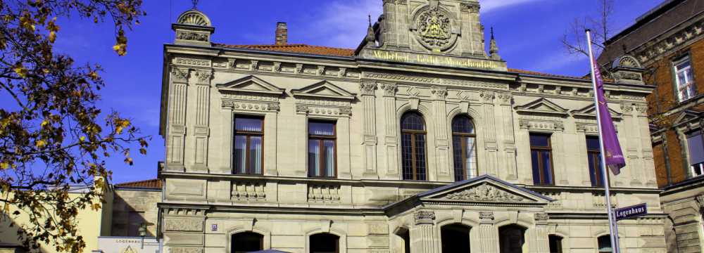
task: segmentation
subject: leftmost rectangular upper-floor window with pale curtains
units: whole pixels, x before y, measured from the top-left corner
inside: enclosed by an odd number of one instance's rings
[[[261,175],[264,164],[262,143],[264,120],[257,117],[234,119],[234,174]]]

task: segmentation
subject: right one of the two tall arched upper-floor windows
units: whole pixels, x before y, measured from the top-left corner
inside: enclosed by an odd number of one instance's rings
[[[452,146],[455,181],[477,176],[477,136],[470,117],[460,115],[452,120]]]

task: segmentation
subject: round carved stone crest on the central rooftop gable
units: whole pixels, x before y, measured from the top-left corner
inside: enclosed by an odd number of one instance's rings
[[[414,30],[420,44],[439,52],[451,48],[457,41],[453,25],[451,15],[439,6],[438,0],[431,0],[430,4],[415,13],[411,30]]]

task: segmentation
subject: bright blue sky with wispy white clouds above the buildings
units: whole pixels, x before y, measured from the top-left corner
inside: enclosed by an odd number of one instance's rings
[[[635,18],[662,0],[616,0],[612,27],[631,25]],[[596,15],[596,0],[480,0],[482,23],[494,27],[500,54],[511,68],[553,74],[586,74],[586,58],[569,56],[560,43],[570,24]],[[377,17],[382,0],[241,1],[201,0],[199,10],[215,26],[213,41],[226,44],[272,44],[276,22],[288,22],[289,43],[356,48],[367,27],[367,14]],[[163,138],[158,136],[163,44],[173,39],[171,22],[191,8],[188,0],[146,0],[146,17],[128,32],[127,56],[111,47],[110,24],[87,20],[59,20],[57,49],[70,53],[77,63],[100,63],[107,87],[101,91],[103,111],[118,110],[153,136],[148,155],[134,155],[130,167],[117,157],[108,160],[113,182],[156,177],[163,160]],[[487,32],[488,35],[488,32]]]

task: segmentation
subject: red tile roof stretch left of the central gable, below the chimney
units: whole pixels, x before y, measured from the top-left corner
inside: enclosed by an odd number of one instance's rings
[[[213,43],[213,46],[224,48],[248,48],[265,51],[289,52],[289,53],[310,53],[321,56],[354,56],[354,49],[333,48],[329,46],[310,46],[306,44],[286,44],[286,45],[227,45]]]

